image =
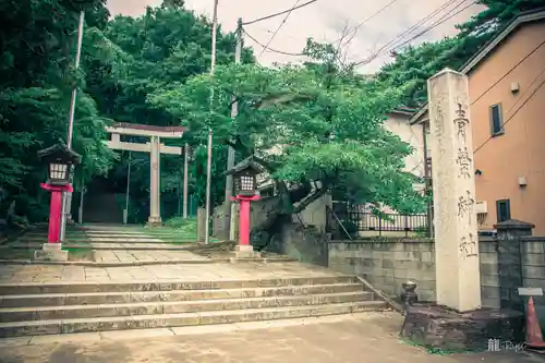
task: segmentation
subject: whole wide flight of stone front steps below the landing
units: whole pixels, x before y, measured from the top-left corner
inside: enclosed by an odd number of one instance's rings
[[[206,268],[206,267],[203,267]],[[353,276],[0,285],[0,338],[316,317],[387,307]]]

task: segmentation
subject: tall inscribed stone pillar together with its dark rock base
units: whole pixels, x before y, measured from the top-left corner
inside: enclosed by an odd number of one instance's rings
[[[481,308],[481,270],[468,77],[446,69],[427,81],[437,302],[405,313],[400,336],[426,348],[483,350],[517,342],[523,314]]]

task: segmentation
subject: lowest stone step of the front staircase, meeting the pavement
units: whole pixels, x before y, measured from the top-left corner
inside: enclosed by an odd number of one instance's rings
[[[282,318],[351,314],[365,311],[376,311],[384,307],[386,307],[386,304],[382,301],[362,301],[337,304],[245,308],[201,313],[11,322],[0,323],[0,338],[274,320]]]

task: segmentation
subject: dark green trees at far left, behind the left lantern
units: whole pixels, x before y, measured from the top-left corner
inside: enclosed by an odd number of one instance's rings
[[[77,85],[73,147],[82,154],[76,180],[106,172],[112,154],[102,145],[104,124],[95,101],[85,92],[85,71],[73,69],[80,12],[87,26],[104,27],[102,0],[0,1],[0,187],[15,202],[15,211],[43,220],[48,199],[39,183],[46,179],[37,150],[64,141],[72,87]],[[92,55],[88,55],[92,57]],[[77,186],[77,185],[76,185]]]

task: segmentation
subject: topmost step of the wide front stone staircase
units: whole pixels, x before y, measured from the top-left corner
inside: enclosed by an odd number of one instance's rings
[[[136,281],[136,282],[21,282],[0,283],[0,295],[40,293],[89,293],[89,292],[137,292],[173,290],[221,290],[292,287],[307,285],[358,283],[353,276],[293,277],[263,280],[216,280],[216,281]]]

